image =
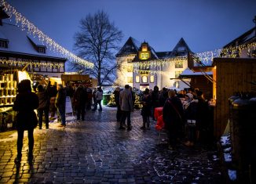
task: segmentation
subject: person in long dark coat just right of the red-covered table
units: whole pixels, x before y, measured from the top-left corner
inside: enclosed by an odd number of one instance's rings
[[[181,99],[177,98],[175,92],[168,92],[169,98],[163,106],[163,121],[169,135],[169,149],[174,150],[177,141],[181,138],[183,126],[183,108]]]

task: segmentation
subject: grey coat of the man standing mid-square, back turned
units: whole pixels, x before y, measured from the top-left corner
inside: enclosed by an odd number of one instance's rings
[[[120,104],[121,110],[123,111],[133,110],[133,97],[132,97],[132,93],[128,88],[125,88],[123,89],[123,91],[120,92],[119,104]]]

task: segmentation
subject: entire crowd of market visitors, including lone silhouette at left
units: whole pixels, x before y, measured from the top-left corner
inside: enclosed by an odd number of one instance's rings
[[[86,110],[102,111],[101,100],[103,90],[101,87],[90,88],[80,84],[74,88],[50,82],[44,87],[38,85],[32,92],[31,81],[23,80],[18,85],[18,94],[14,101],[13,110],[17,111],[16,129],[17,157],[16,163],[20,162],[21,150],[23,146],[24,131],[28,132],[28,159],[33,159],[34,129],[38,126],[42,129],[44,117],[46,129],[49,128],[49,120],[53,120],[57,112],[57,121],[60,127],[66,126],[66,96],[71,99],[72,109],[75,110],[77,121],[84,121]],[[130,85],[125,88],[115,88],[115,104],[117,106],[116,121],[119,122],[119,129],[127,128],[132,130],[131,112],[135,102],[135,92]],[[155,120],[154,111],[156,107],[163,106],[164,128],[169,135],[169,149],[174,150],[181,139],[187,139],[186,146],[193,146],[196,141],[205,141],[209,135],[210,124],[208,121],[209,111],[207,100],[203,97],[203,92],[197,90],[182,90],[176,92],[163,88],[159,91],[157,86],[153,90],[145,88],[141,101],[142,130],[150,130],[150,117]],[[38,112],[38,117],[35,114]],[[50,116],[50,117],[49,117]]]

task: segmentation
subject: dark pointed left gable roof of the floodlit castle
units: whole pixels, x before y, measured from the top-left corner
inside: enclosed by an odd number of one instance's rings
[[[122,49],[115,56],[121,56],[126,54],[137,54],[141,43],[137,41],[135,38],[128,38],[126,43],[123,45]]]

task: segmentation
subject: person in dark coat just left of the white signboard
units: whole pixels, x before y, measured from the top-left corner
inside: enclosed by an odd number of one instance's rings
[[[66,112],[65,112],[66,92],[65,92],[65,89],[63,88],[63,85],[60,85],[60,84],[57,85],[57,96],[56,96],[55,106],[57,107],[58,122],[61,123],[59,126],[65,127],[66,126]]]

